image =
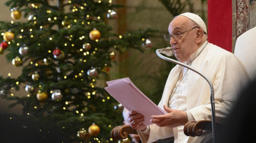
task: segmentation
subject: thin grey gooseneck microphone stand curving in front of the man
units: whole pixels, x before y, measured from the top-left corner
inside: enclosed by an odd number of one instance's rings
[[[176,61],[174,59],[170,59],[170,58],[167,58],[167,57],[164,57],[163,55],[160,54],[160,51],[159,50],[162,50],[163,49],[157,49],[156,50],[156,54],[158,55],[158,57],[160,57],[161,59],[164,59],[166,61],[169,61],[169,62],[172,62],[172,63],[175,63],[175,64],[178,64],[178,65],[181,65],[182,67],[186,67],[188,69],[190,69],[191,71],[194,71],[196,73],[198,73],[200,76],[202,76],[207,82],[208,84],[210,85],[210,102],[211,102],[211,107],[212,107],[212,141],[213,143],[215,143],[216,141],[216,132],[215,132],[215,129],[216,129],[216,121],[215,121],[215,101],[214,101],[214,90],[213,90],[213,86],[212,86],[212,82],[210,81],[210,79],[204,75],[202,72],[184,64],[184,63],[181,63],[179,61]],[[170,50],[171,51],[171,50]],[[168,55],[169,56],[169,55]]]

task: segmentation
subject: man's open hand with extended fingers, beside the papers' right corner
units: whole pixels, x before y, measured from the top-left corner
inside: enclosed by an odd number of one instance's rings
[[[164,105],[164,110],[168,113],[165,115],[151,116],[151,123],[155,123],[159,127],[178,127],[188,122],[186,112],[173,110]]]

